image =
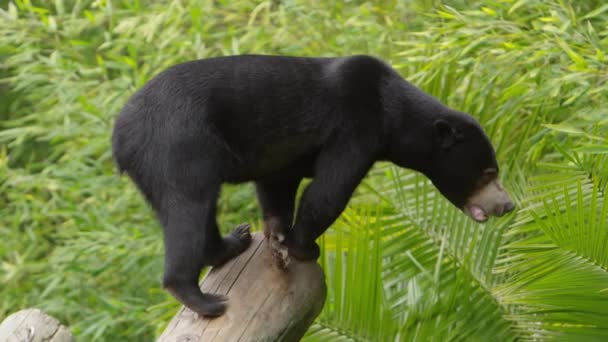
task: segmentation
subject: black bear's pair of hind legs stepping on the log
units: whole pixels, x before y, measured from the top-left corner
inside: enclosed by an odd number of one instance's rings
[[[226,310],[226,304],[223,296],[201,292],[198,286],[201,269],[237,256],[251,242],[246,226],[238,226],[222,239],[215,220],[218,193],[219,184],[188,194],[173,190],[161,215],[165,226],[163,285],[202,316],[219,316]]]

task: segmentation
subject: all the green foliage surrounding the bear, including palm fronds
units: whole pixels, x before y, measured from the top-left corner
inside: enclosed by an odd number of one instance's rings
[[[518,211],[475,224],[378,164],[320,241],[330,293],[306,340],[608,340],[604,1],[0,8],[0,319],[36,306],[83,341],[149,341],[175,313],[158,224],[109,148],[146,80],[207,56],[365,53],[480,120]],[[225,230],[259,225],[249,185],[220,207]]]

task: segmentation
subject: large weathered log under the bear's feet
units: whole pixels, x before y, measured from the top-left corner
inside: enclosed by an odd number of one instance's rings
[[[160,342],[298,341],[321,313],[327,291],[319,264],[292,259],[280,269],[261,233],[240,256],[212,269],[201,290],[227,296],[226,313],[206,319],[182,307]]]

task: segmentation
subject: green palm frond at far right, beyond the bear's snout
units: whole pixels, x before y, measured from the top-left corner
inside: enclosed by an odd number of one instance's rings
[[[608,329],[608,200],[603,170],[544,164],[505,236],[496,296],[530,339],[603,340]],[[603,161],[600,160],[600,163]],[[599,172],[596,173],[596,170]],[[552,171],[552,172],[551,172]],[[600,177],[595,177],[599,175]]]

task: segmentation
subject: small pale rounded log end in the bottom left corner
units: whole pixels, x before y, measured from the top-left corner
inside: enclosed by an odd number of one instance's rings
[[[74,337],[58,320],[39,309],[25,309],[0,324],[2,342],[72,342]]]

